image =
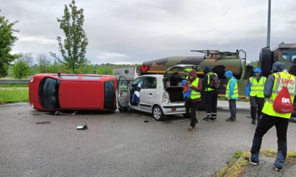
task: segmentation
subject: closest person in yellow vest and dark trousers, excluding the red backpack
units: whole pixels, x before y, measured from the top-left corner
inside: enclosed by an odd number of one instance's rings
[[[266,98],[266,102],[254,133],[251,157],[246,157],[245,160],[250,164],[259,164],[259,151],[261,148],[262,137],[267,131],[269,131],[269,129],[271,129],[271,127],[276,126],[278,152],[273,167],[276,171],[281,171],[287,156],[287,130],[291,113],[276,112],[273,109],[273,102],[278,96],[278,92],[283,87],[283,81],[285,81],[285,83],[288,81],[287,87],[290,93],[290,100],[293,103],[296,91],[296,81],[295,76],[289,74],[288,71],[285,70],[285,64],[281,62],[273,63],[271,73],[273,74],[269,75],[264,84],[264,97]]]

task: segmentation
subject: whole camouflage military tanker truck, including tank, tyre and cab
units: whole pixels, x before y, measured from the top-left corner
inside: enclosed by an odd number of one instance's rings
[[[140,75],[143,74],[164,74],[164,72],[173,65],[185,64],[185,65],[199,65],[211,67],[213,72],[218,74],[221,81],[218,96],[225,97],[227,79],[224,77],[224,73],[227,70],[233,72],[233,76],[238,79],[238,92],[240,98],[245,98],[245,90],[249,77],[252,76],[254,68],[260,67],[262,74],[265,77],[271,72],[271,67],[274,62],[280,61],[285,63],[285,66],[289,70],[290,67],[296,64],[296,44],[278,44],[273,51],[270,48],[265,47],[261,49],[259,54],[259,62],[246,63],[246,53],[243,50],[237,50],[236,52],[221,52],[221,51],[195,51],[204,53],[204,56],[171,56],[166,58],[159,58],[154,60],[147,60],[142,63],[140,67]],[[240,56],[240,53],[244,58]],[[202,71],[197,71],[199,78],[204,77]],[[199,110],[205,107],[203,103]]]

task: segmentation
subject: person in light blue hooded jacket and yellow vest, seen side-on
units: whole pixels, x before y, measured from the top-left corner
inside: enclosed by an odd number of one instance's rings
[[[227,122],[235,122],[236,120],[236,100],[238,100],[238,80],[233,77],[233,72],[225,72],[228,79],[226,86],[226,98],[229,103],[230,117],[226,119]]]

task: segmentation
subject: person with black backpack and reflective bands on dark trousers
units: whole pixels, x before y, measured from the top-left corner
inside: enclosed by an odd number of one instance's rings
[[[216,73],[211,72],[211,67],[205,66],[204,81],[202,81],[202,89],[204,90],[206,98],[206,117],[204,117],[204,121],[216,121],[217,118],[218,91],[209,87],[211,74],[217,76]]]

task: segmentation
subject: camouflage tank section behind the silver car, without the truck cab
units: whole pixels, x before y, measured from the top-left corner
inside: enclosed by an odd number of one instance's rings
[[[241,98],[245,98],[245,89],[247,81],[252,76],[254,66],[247,65],[246,53],[242,50],[236,52],[221,51],[195,51],[204,53],[203,56],[171,56],[148,60],[142,63],[140,67],[140,75],[143,74],[164,74],[164,72],[173,65],[199,65],[209,66],[213,72],[218,75],[221,84],[218,90],[218,96],[223,97],[226,93],[227,79],[224,74],[227,70],[233,72],[233,76],[238,79],[238,91]],[[245,58],[240,57],[240,53],[245,53]],[[256,66],[255,66],[256,67]],[[202,70],[197,71],[199,78],[204,77]],[[204,100],[204,99],[203,99]],[[204,109],[205,103],[201,104],[199,110]]]

